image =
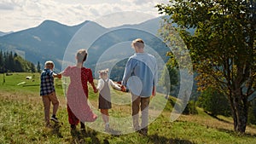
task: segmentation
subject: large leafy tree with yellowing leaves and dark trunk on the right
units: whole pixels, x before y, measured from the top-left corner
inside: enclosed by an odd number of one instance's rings
[[[247,100],[256,85],[256,1],[169,2],[156,7],[160,14],[169,15],[166,24],[177,23],[198,73],[199,88],[215,87],[228,95],[234,130],[244,133]],[[188,28],[195,28],[195,34]]]

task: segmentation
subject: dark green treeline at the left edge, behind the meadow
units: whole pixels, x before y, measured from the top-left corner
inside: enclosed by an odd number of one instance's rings
[[[20,55],[0,51],[0,73],[4,72],[37,72],[35,65],[24,60]]]

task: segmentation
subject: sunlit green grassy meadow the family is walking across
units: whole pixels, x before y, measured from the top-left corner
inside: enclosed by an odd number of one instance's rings
[[[26,79],[26,76],[33,78]],[[21,82],[26,84],[17,85]],[[61,124],[55,124],[49,129],[44,127],[44,107],[39,96],[39,74],[14,73],[5,77],[4,84],[3,74],[0,74],[0,143],[256,143],[255,125],[247,126],[246,134],[239,135],[233,131],[232,118],[212,118],[201,108],[197,109],[197,115],[182,115],[176,121],[170,122],[172,106],[168,102],[160,117],[149,125],[147,136],[138,133],[109,135],[89,127],[86,127],[87,136],[72,136],[61,83],[61,80],[55,79],[56,92],[61,101],[57,113]],[[97,94],[90,92],[90,101],[92,105],[96,105]],[[110,111],[110,115],[115,117],[130,114],[130,105],[113,107]]]

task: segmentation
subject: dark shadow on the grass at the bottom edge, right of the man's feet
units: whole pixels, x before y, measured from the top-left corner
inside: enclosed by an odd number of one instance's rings
[[[165,136],[159,136],[159,135],[148,135],[148,138],[150,141],[152,141],[153,143],[170,143],[170,144],[194,144],[193,142],[191,141],[188,141],[188,140],[181,140],[181,139],[168,139],[166,138]]]

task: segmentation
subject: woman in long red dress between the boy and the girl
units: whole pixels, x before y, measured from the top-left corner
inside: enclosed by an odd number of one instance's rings
[[[70,84],[67,89],[67,113],[68,122],[71,125],[71,133],[76,130],[76,125],[81,124],[81,132],[85,133],[84,122],[94,122],[97,115],[92,112],[88,105],[88,86],[89,82],[97,92],[96,86],[93,83],[92,72],[90,68],[83,66],[86,60],[87,52],[85,49],[79,49],[76,59],[76,66],[67,66],[62,72],[64,77],[70,78]]]

